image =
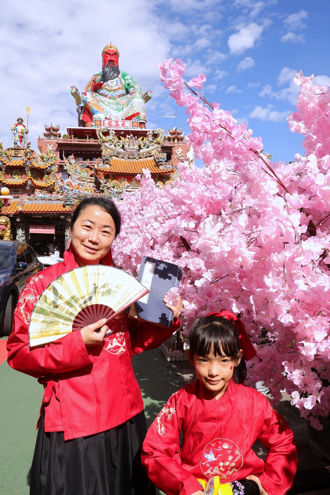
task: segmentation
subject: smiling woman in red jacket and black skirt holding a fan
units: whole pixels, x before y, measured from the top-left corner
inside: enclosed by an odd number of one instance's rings
[[[180,327],[180,310],[164,297],[174,313],[170,329],[121,313],[108,324],[114,329],[109,337],[105,320],[100,320],[30,349],[28,326],[38,297],[74,268],[112,265],[111,245],[120,232],[120,214],[109,199],[84,199],[73,213],[70,230],[71,246],[63,263],[32,277],[21,293],[7,345],[9,365],[38,378],[45,387],[30,494],[151,495],[154,488],[141,468],[146,426],[131,356],[168,339]],[[109,339],[118,345],[105,342]]]

